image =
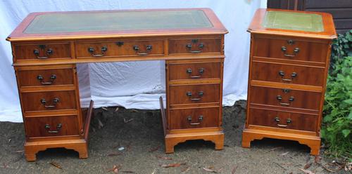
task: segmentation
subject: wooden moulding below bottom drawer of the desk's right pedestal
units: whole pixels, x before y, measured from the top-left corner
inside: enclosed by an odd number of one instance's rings
[[[213,128],[188,128],[188,129],[175,129],[170,130],[166,137],[170,137],[170,134],[178,134],[178,135],[203,135],[203,134],[213,134],[213,133],[222,133],[221,127],[213,127]]]

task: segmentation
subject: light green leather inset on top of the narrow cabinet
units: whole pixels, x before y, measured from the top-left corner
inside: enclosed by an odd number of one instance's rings
[[[265,28],[272,29],[291,29],[306,32],[324,31],[322,16],[312,13],[267,11],[262,25]]]

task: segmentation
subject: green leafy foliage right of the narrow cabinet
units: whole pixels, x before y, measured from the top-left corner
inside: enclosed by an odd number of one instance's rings
[[[325,93],[322,138],[332,156],[352,160],[352,30],[334,41]],[[349,57],[347,57],[349,56]]]

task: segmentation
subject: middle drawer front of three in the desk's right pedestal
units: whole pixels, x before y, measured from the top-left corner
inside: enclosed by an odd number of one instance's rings
[[[219,102],[220,84],[170,86],[170,105]]]

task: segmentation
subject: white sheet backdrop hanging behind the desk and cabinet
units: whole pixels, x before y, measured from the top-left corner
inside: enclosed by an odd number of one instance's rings
[[[231,106],[236,100],[246,99],[249,66],[249,34],[246,29],[256,9],[266,7],[265,0],[0,1],[0,121],[23,121],[11,67],[11,47],[5,39],[28,13],[202,7],[212,8],[230,32],[225,36],[223,105]],[[94,107],[120,105],[126,108],[158,109],[158,96],[165,95],[163,61],[96,63],[80,65],[79,68],[86,72],[79,75],[80,83],[90,79]],[[90,76],[87,76],[87,72]],[[88,89],[82,89],[81,95],[89,95]],[[83,101],[87,103],[87,99],[83,98]]]

